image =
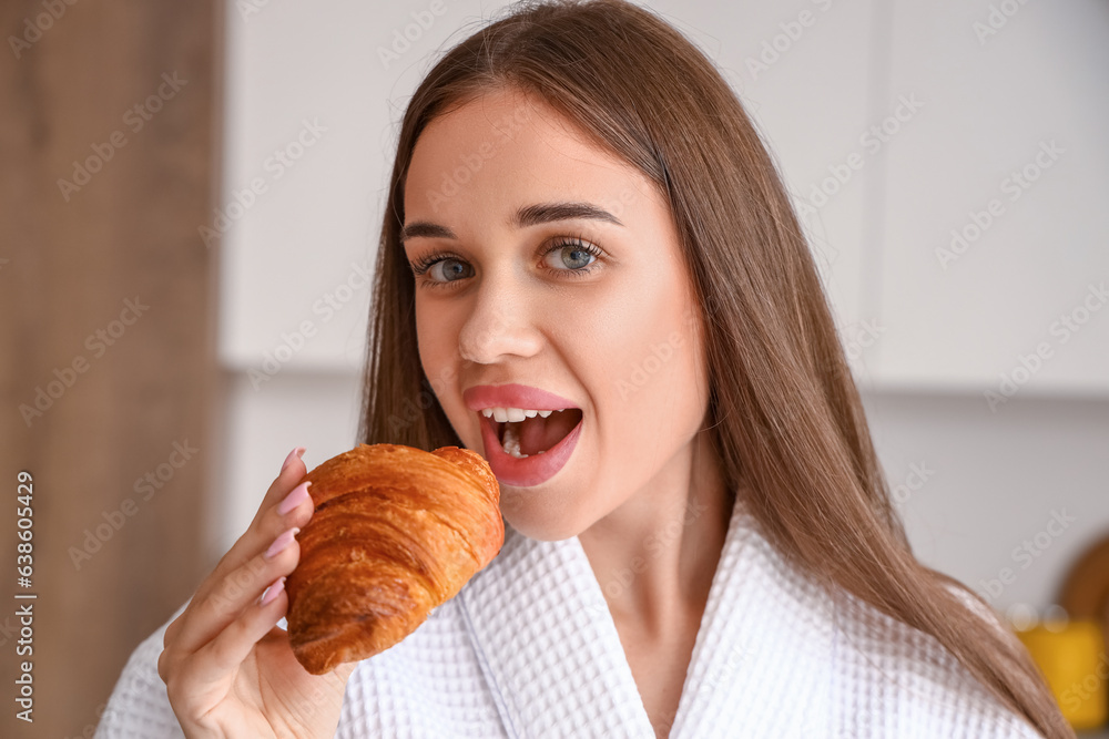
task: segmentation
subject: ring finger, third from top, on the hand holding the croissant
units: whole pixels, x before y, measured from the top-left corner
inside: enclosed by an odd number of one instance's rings
[[[218,579],[197,602],[190,618],[182,622],[175,648],[183,654],[199,650],[248,609],[267,585],[292,573],[301,557],[297,531],[285,530],[264,551]]]

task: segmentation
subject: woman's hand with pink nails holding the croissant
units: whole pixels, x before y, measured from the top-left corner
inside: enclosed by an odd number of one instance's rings
[[[301,557],[294,536],[314,510],[308,483],[296,485],[303,453],[289,453],[250,527],[165,629],[157,674],[189,737],[335,735],[356,663],[312,675],[276,625]]]

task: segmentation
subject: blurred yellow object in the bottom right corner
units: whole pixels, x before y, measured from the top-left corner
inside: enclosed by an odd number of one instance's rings
[[[1075,729],[1099,729],[1109,714],[1109,655],[1101,625],[1091,619],[1044,622],[1017,637],[1044,673]]]

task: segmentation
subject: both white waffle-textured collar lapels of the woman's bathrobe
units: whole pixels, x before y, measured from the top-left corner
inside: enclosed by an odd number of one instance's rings
[[[805,736],[826,726],[832,616],[740,499],[713,576],[670,737]],[[456,597],[510,737],[654,731],[577,536],[505,527],[497,557]],[[773,649],[760,649],[761,643]],[[784,647],[779,643],[783,643]],[[797,710],[776,714],[774,707]]]

